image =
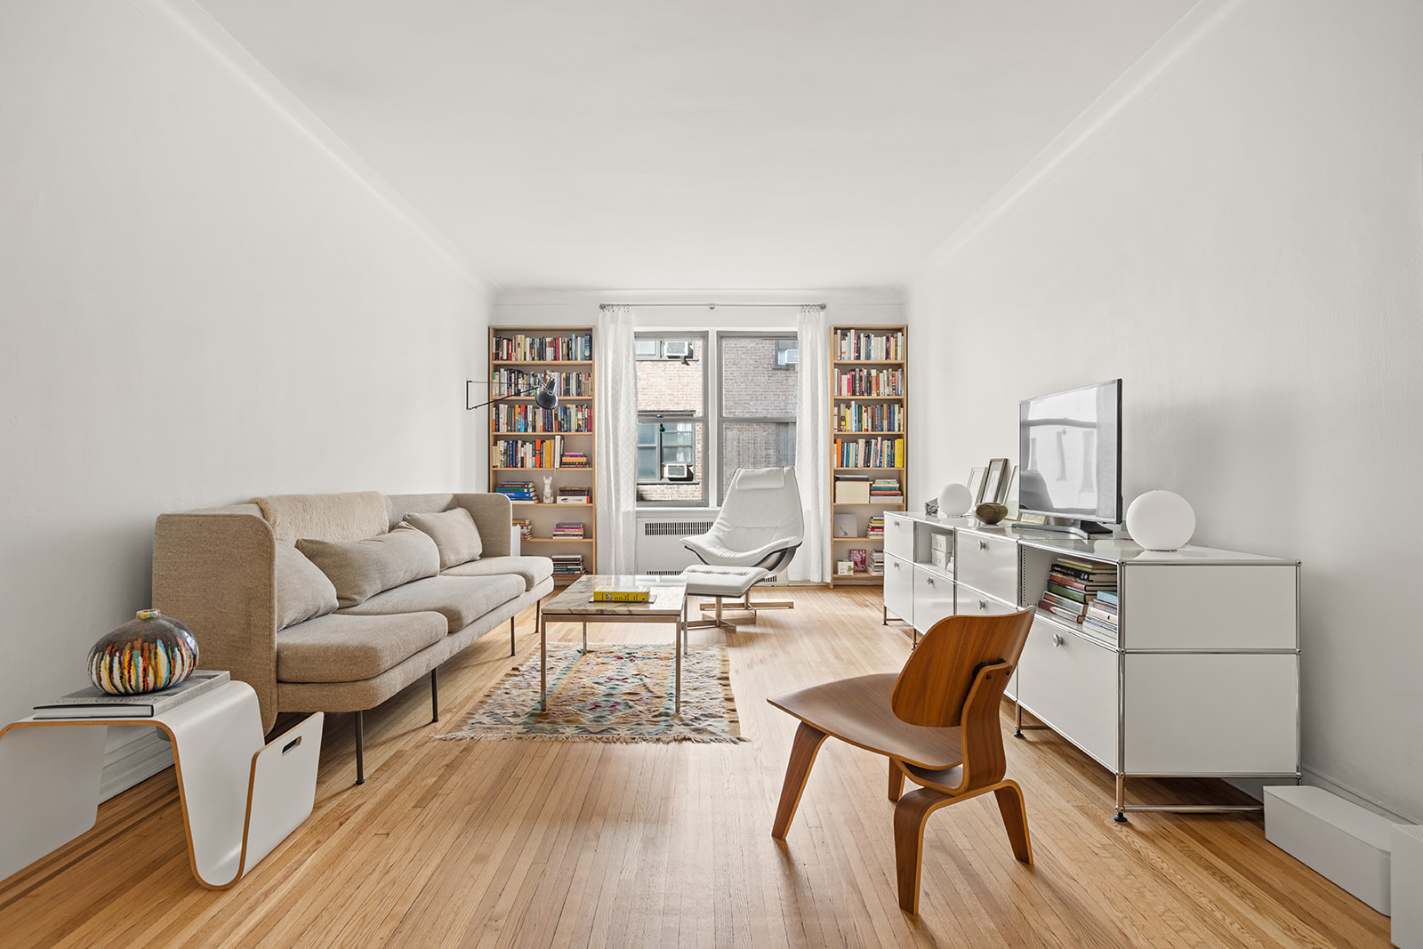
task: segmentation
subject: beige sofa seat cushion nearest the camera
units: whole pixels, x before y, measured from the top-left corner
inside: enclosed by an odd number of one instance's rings
[[[438,613],[327,613],[276,635],[276,677],[279,682],[374,679],[444,637],[445,619]]]

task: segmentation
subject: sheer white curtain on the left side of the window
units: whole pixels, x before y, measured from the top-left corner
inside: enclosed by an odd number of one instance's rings
[[[593,340],[593,434],[598,465],[598,572],[636,572],[638,373],[632,307],[605,306]]]

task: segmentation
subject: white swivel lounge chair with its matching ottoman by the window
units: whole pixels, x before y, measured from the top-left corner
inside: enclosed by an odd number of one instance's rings
[[[716,596],[716,619],[687,626],[730,626],[721,617],[721,598],[740,596],[731,609],[794,609],[791,600],[757,600],[750,588],[790,565],[805,539],[795,468],[737,468],[712,529],[682,538],[683,546],[706,565],[689,568],[687,593]],[[713,603],[702,603],[706,610]]]

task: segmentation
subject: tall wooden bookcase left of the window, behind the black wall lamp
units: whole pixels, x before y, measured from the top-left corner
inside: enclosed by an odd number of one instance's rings
[[[524,553],[552,556],[554,582],[572,583],[582,573],[598,572],[598,470],[593,420],[593,327],[495,326],[490,327],[490,398],[532,386],[528,376],[555,373],[558,408],[541,410],[534,394],[509,396],[488,407],[490,491],[518,482],[532,484],[534,502],[514,504],[514,519],[529,521],[532,534],[521,542]],[[515,387],[525,373],[525,383]],[[582,452],[586,467],[566,464],[569,452]],[[535,458],[528,455],[538,454]],[[524,455],[524,457],[519,457]],[[554,502],[544,501],[544,478],[552,478]],[[562,492],[585,491],[586,504],[561,504]],[[583,535],[555,536],[559,524],[579,522]],[[559,572],[559,556],[579,555],[578,573]]]

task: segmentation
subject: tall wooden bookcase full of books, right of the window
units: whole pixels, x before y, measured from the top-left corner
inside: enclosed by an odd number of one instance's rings
[[[830,330],[831,586],[884,583],[884,514],[904,511],[909,497],[908,346],[904,326]],[[898,492],[887,495],[891,481]],[[869,534],[877,518],[879,531]],[[837,524],[851,521],[852,536],[838,536]],[[865,569],[840,573],[854,551],[864,552]]]

